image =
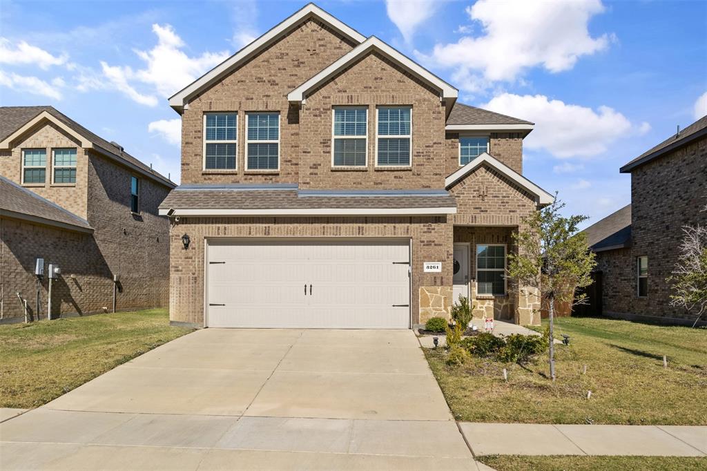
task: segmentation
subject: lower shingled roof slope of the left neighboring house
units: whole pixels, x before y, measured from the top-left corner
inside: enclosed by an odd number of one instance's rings
[[[70,231],[93,232],[86,219],[0,176],[0,216],[47,224]]]

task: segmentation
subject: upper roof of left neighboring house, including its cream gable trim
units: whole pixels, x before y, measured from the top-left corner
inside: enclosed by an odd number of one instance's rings
[[[90,132],[78,122],[59,112],[52,106],[3,106],[0,107],[0,149],[9,149],[11,141],[24,134],[42,120],[49,120],[62,127],[64,131],[74,135],[81,146],[93,149],[112,158],[142,175],[174,188],[177,184],[160,173],[152,170],[148,165],[125,152],[121,147],[106,141],[102,137]]]

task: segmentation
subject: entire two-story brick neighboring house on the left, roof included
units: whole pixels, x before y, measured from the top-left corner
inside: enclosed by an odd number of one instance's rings
[[[176,185],[51,106],[0,107],[2,318],[52,318],[167,306],[169,221],[158,204]],[[117,277],[114,282],[114,277]]]

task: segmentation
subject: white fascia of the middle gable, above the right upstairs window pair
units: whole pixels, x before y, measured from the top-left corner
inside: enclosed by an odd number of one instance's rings
[[[351,62],[356,61],[363,54],[366,54],[370,50],[374,49],[381,52],[383,55],[392,59],[394,62],[404,66],[405,69],[411,71],[411,73],[423,79],[427,83],[430,83],[435,88],[441,92],[441,98],[452,98],[456,100],[459,91],[452,87],[449,83],[443,81],[438,76],[428,71],[420,64],[417,64],[409,57],[401,54],[397,50],[393,49],[389,45],[382,42],[378,37],[371,36],[366,41],[362,42],[360,45],[354,47],[353,50],[344,54],[344,56],[337,59],[336,62],[327,66],[325,69],[320,71],[320,73],[313,76],[311,79],[303,83],[302,85],[295,88],[293,91],[287,94],[287,100],[291,102],[301,102],[305,99],[305,95],[308,91],[312,90],[320,83],[329,79],[329,77],[334,76],[339,73],[342,69],[346,68],[351,64]]]

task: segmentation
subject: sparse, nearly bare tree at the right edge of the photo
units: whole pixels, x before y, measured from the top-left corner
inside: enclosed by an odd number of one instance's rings
[[[694,327],[707,311],[707,226],[685,226],[682,231],[677,263],[667,281],[674,291],[670,305],[695,313]]]

